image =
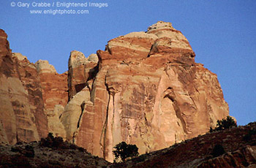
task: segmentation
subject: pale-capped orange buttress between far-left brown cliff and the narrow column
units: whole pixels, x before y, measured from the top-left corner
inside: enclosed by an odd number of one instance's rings
[[[66,138],[67,134],[60,116],[67,104],[67,72],[58,74],[48,61],[39,60],[35,63],[42,88],[44,112],[48,117],[48,129],[55,136]]]

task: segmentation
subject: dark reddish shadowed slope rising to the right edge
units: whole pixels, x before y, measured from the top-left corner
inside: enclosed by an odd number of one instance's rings
[[[256,123],[215,131],[110,167],[256,167]],[[220,145],[220,153],[214,147]]]

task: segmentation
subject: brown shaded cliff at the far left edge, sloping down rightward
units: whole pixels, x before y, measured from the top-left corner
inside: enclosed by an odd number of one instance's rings
[[[37,70],[25,56],[12,55],[7,35],[0,32],[1,142],[39,140],[48,133],[48,121]]]

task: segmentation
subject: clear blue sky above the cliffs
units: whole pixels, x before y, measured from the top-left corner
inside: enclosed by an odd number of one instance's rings
[[[87,2],[87,7],[59,7],[60,3],[57,7],[58,1]],[[39,2],[50,7],[38,7]],[[89,3],[108,7],[89,7]],[[56,9],[72,9],[76,14],[49,14]],[[31,14],[32,10],[48,14]],[[158,20],[173,23],[189,40],[196,62],[218,75],[230,115],[238,124],[256,121],[255,0],[0,1],[0,28],[7,32],[12,51],[31,62],[48,60],[59,73],[67,71],[70,51],[89,56],[104,50],[108,40],[146,31]]]

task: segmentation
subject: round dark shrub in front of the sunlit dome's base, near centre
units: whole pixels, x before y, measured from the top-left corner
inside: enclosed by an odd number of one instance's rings
[[[129,157],[135,157],[139,155],[138,147],[136,145],[127,145],[126,142],[120,142],[114,148],[116,149],[113,150],[115,161],[118,161],[118,159],[125,161],[125,159]]]

